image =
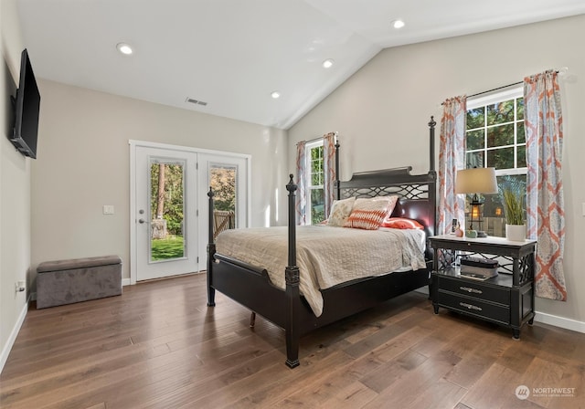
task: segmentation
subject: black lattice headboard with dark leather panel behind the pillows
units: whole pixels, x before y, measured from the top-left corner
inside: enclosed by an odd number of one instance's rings
[[[410,174],[411,166],[382,171],[354,173],[350,180],[338,182],[340,199],[348,197],[400,197],[392,215],[417,220],[427,236],[437,231],[437,173]]]

